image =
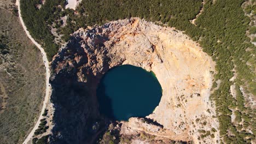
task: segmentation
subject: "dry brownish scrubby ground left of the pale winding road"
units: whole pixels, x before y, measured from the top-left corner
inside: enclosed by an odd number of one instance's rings
[[[22,143],[44,95],[40,52],[26,37],[15,1],[0,1],[0,143]]]

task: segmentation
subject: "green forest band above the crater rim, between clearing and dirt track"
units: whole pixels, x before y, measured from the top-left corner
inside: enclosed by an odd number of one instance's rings
[[[194,19],[201,8],[202,0],[84,0],[77,8],[79,15],[70,16],[75,22],[72,25],[67,25],[66,28],[102,25],[107,21],[141,17],[147,21],[158,22],[160,25],[165,24],[179,29],[190,29],[187,34],[197,40],[198,37],[195,37],[195,35],[199,35],[200,31],[189,20]]]

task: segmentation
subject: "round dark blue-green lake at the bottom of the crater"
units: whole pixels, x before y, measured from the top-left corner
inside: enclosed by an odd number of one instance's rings
[[[162,88],[153,72],[132,65],[110,69],[97,88],[100,112],[118,121],[149,115],[161,96]]]

